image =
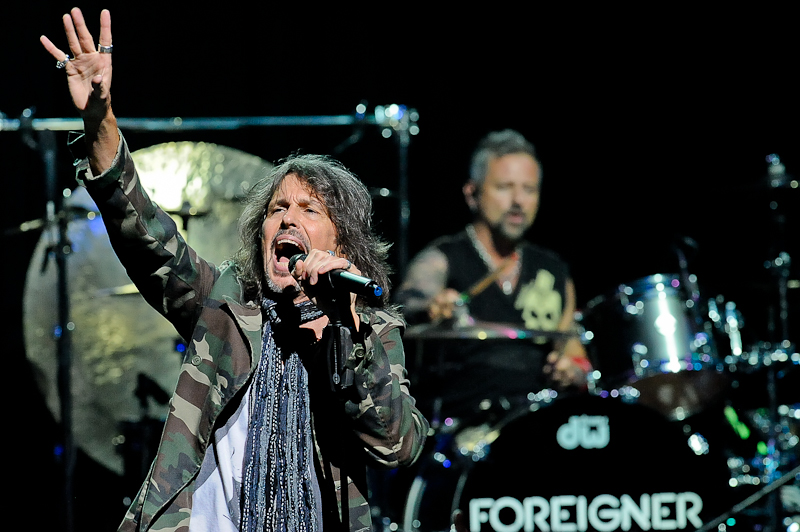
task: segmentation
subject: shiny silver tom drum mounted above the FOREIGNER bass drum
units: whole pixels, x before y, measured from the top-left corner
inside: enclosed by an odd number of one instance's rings
[[[683,419],[727,386],[724,326],[678,275],[653,275],[595,298],[581,325],[598,391],[633,386],[642,404]]]

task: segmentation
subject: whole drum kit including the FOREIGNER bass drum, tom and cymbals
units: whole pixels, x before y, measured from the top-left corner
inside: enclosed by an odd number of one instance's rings
[[[578,313],[592,362],[581,391],[532,387],[450,415],[449,389],[417,384],[460,369],[467,342],[537,350],[557,338],[509,324],[410,327],[409,371],[432,429],[410,471],[376,482],[382,530],[800,530],[789,256],[770,263],[780,339],[749,343],[736,303],[705,294],[676,252],[677,272],[620,284]]]

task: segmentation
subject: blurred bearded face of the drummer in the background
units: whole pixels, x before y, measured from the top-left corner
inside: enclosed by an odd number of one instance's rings
[[[478,216],[502,237],[521,239],[539,210],[540,179],[539,163],[526,153],[492,158],[473,195]]]

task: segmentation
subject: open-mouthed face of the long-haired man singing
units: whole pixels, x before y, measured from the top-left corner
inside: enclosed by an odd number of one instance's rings
[[[275,292],[299,289],[289,271],[292,255],[312,249],[336,251],[336,227],[328,209],[294,174],[286,176],[267,207],[262,235],[264,268]]]

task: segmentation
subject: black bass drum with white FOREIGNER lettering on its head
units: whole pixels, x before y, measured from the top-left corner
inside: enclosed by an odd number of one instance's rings
[[[403,530],[694,530],[730,507],[724,458],[651,409],[588,394],[532,408],[440,437]]]

